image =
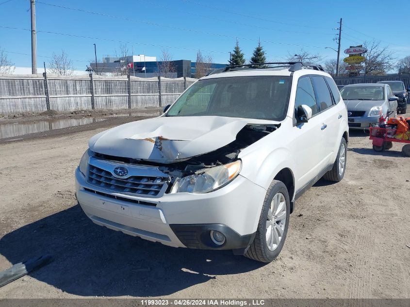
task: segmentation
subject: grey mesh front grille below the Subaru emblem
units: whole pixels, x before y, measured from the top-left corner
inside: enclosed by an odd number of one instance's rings
[[[106,190],[147,196],[158,196],[163,188],[166,189],[168,186],[167,178],[146,176],[116,178],[111,172],[92,164],[89,164],[88,181]]]

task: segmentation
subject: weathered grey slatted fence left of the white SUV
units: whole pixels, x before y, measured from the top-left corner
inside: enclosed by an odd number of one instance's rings
[[[126,109],[172,103],[196,79],[0,75],[0,113]]]

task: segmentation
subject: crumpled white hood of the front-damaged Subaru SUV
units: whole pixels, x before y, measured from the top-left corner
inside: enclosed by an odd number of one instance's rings
[[[88,145],[92,151],[110,156],[172,163],[228,145],[250,124],[278,122],[221,116],[161,116],[100,132]]]

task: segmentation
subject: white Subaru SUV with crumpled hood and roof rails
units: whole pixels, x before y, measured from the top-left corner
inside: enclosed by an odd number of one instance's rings
[[[85,214],[166,245],[275,259],[295,199],[344,177],[347,111],[320,65],[262,67],[215,71],[162,116],[92,137],[76,170]]]

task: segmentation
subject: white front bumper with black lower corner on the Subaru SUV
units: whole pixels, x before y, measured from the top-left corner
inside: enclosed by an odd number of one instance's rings
[[[211,193],[138,197],[93,186],[77,168],[76,193],[100,226],[175,247],[239,249],[253,240],[266,190],[239,175]],[[210,243],[211,230],[221,231],[226,242]]]

